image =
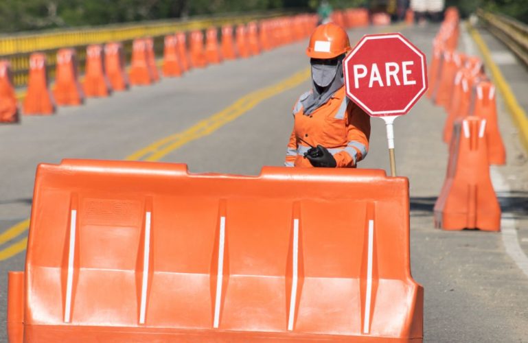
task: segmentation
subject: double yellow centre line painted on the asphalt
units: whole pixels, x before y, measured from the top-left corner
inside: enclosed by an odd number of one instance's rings
[[[310,69],[304,69],[299,71],[289,78],[282,80],[281,82],[274,84],[273,86],[268,86],[266,88],[261,88],[257,91],[249,93],[244,97],[238,99],[236,102],[228,106],[227,108],[221,110],[211,117],[198,121],[194,126],[184,130],[182,132],[177,132],[168,137],[160,139],[147,147],[144,147],[141,150],[129,155],[126,157],[128,161],[159,161],[163,156],[166,156],[170,152],[178,149],[179,147],[190,143],[196,139],[205,137],[222,126],[225,126],[227,123],[237,119],[238,117],[247,113],[251,108],[257,106],[266,99],[269,99],[279,93],[288,91],[288,89],[295,88],[299,86],[302,82],[305,82],[310,77]],[[18,224],[8,228],[3,233],[0,234],[0,246],[5,244],[12,239],[19,237],[25,233],[25,231],[30,226],[30,220],[23,220]],[[0,261],[9,259],[14,255],[23,252],[27,246],[27,237],[19,239],[14,243],[10,244],[7,248],[0,250]]]

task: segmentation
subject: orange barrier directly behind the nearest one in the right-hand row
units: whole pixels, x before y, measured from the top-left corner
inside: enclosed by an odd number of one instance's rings
[[[486,121],[487,159],[490,165],[505,165],[506,149],[498,130],[495,86],[490,80],[479,80],[474,92],[470,113]]]

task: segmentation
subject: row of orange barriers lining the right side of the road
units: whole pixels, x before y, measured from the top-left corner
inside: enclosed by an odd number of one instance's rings
[[[501,229],[490,165],[504,165],[506,153],[498,130],[495,86],[480,58],[456,51],[459,13],[446,18],[433,41],[428,97],[445,108],[443,139],[449,143],[446,179],[435,203],[435,227],[444,230]]]

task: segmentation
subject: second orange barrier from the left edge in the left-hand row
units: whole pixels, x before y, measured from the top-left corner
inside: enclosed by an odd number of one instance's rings
[[[23,102],[24,115],[51,115],[55,112],[53,96],[48,88],[46,56],[34,53],[30,56],[30,77]]]

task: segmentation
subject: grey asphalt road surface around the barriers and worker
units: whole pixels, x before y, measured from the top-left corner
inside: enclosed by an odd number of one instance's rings
[[[400,27],[428,56],[437,29],[436,25]],[[380,30],[354,30],[351,41],[354,44],[366,32]],[[305,47],[306,42],[289,45],[107,99],[89,99],[85,106],[60,108],[53,117],[24,117],[19,125],[0,126],[0,233],[29,216],[38,163],[126,158],[154,141],[192,128],[244,95],[306,69]],[[263,165],[282,165],[292,128],[292,105],[310,86],[308,80],[299,83],[297,78],[296,83],[260,99],[203,137],[180,141],[181,146],[160,161],[187,163],[192,172],[253,175]],[[523,86],[527,85],[528,76]],[[516,219],[519,243],[526,252],[528,162],[501,99],[498,104],[508,161],[495,170],[509,188],[499,196],[503,211]],[[424,341],[528,342],[528,276],[507,255],[503,236],[433,228],[432,209],[448,161],[447,146],[441,141],[445,117],[443,110],[424,98],[395,123],[398,174],[411,182],[411,265],[415,280],[425,289]],[[373,119],[372,127],[370,151],[360,167],[388,172],[384,123]],[[24,235],[27,232],[5,242],[0,250]],[[24,258],[21,252],[0,261],[2,323],[7,271],[23,270]],[[5,324],[0,327],[3,336]]]

